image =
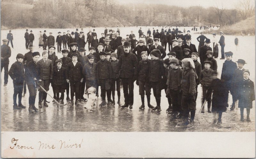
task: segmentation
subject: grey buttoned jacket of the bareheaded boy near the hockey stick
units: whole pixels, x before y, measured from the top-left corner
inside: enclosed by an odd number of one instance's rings
[[[53,77],[52,60],[47,59],[46,62],[44,62],[44,59],[39,60],[36,64],[36,71],[38,75],[38,80],[52,79]]]

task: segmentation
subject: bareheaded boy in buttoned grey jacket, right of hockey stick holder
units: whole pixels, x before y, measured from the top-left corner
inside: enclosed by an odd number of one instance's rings
[[[53,65],[52,60],[48,59],[48,52],[44,51],[42,53],[43,59],[39,60],[36,65],[36,71],[38,75],[38,82],[44,88],[44,90],[48,91],[50,83],[53,78]],[[46,103],[47,93],[44,92],[43,89],[39,88],[39,101],[38,107],[42,108],[42,101],[44,101],[44,106],[48,107]]]

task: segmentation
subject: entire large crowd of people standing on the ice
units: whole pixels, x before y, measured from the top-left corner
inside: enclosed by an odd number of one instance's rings
[[[200,29],[201,30],[201,29]],[[22,92],[29,91],[29,112],[38,112],[35,106],[36,94],[38,93],[38,107],[47,107],[47,91],[50,84],[53,90],[53,98],[64,104],[66,101],[70,106],[79,106],[86,102],[84,94],[90,87],[96,88],[96,95],[102,102],[99,107],[111,107],[116,104],[115,91],[117,91],[117,104],[121,109],[133,108],[134,82],[139,86],[141,97],[140,110],[145,109],[145,94],[148,108],[152,111],[161,111],[161,91],[164,89],[168,100],[167,115],[170,120],[179,119],[179,126],[194,126],[196,113],[196,98],[198,85],[201,84],[203,96],[201,100],[201,113],[204,113],[204,105],[207,102],[207,112],[214,114],[214,123],[221,124],[222,112],[228,107],[229,91],[232,95],[230,110],[238,107],[241,112],[241,121],[244,121],[244,108],[247,111],[247,121],[255,99],[254,83],[249,79],[250,72],[244,69],[246,64],[243,59],[232,61],[233,53],[224,52],[225,38],[220,32],[220,40],[216,40],[213,33],[213,50],[210,46],[211,40],[201,35],[196,39],[199,41],[198,51],[191,43],[190,31],[183,35],[176,29],[161,32],[153,28],[147,36],[139,29],[139,39],[135,34],[127,34],[126,38],[120,37],[120,31],[105,28],[104,33],[97,39],[95,29],[84,35],[84,32],[67,31],[56,37],[44,34],[40,35],[39,46],[43,46],[43,52],[34,52],[34,35],[25,33],[26,48],[30,51],[26,54],[17,54],[14,62],[8,70],[11,49],[7,45],[10,39],[4,39],[1,46],[1,71],[4,68],[4,86],[8,82],[8,75],[13,80],[13,109],[22,109]],[[8,34],[10,37],[10,35]],[[87,36],[85,41],[85,36]],[[217,42],[218,41],[218,42]],[[89,54],[85,54],[85,44],[88,43]],[[161,43],[161,45],[159,45]],[[168,43],[168,45],[167,45]],[[63,49],[61,48],[63,44]],[[217,78],[218,44],[221,46],[221,59],[226,58],[223,63],[221,78]],[[56,46],[57,45],[57,49]],[[166,48],[169,53],[166,58]],[[48,47],[48,50],[47,50]],[[57,53],[62,54],[58,59]],[[150,55],[151,59],[148,58]],[[42,59],[40,57],[42,56]],[[198,60],[199,57],[199,61]],[[237,67],[238,65],[238,67]],[[70,88],[70,98],[69,98]],[[120,102],[121,88],[123,88],[124,104]],[[151,88],[156,100],[156,106],[150,104]],[[17,104],[18,95],[18,104]],[[106,99],[107,95],[107,99]],[[112,97],[111,97],[112,95]],[[75,97],[75,100],[74,100]],[[163,99],[163,98],[162,98]],[[55,102],[53,100],[53,102]],[[219,114],[218,121],[215,119]]]

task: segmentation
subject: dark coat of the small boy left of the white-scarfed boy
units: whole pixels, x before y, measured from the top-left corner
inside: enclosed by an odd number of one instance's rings
[[[53,67],[53,84],[54,85],[63,85],[66,89],[66,68],[61,67],[58,71],[58,67]]]

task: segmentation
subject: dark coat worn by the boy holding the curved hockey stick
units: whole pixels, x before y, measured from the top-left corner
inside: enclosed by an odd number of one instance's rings
[[[26,64],[25,68],[25,77],[27,85],[34,85],[34,78],[38,80],[37,72],[36,72],[36,63],[34,61],[30,61]]]

